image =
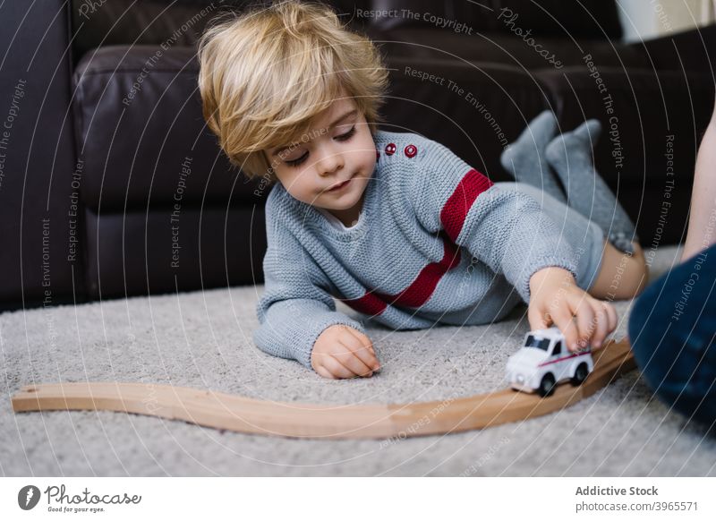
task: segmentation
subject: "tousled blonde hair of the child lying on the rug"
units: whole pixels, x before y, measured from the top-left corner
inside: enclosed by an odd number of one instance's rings
[[[199,89],[209,129],[244,174],[276,181],[264,151],[305,135],[341,90],[375,132],[388,71],[327,5],[289,0],[228,15],[200,38]]]

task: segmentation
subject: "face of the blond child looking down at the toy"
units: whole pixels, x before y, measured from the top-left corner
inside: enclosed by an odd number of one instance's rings
[[[269,149],[266,155],[278,181],[295,199],[328,209],[349,224],[358,218],[376,149],[352,98],[337,99],[297,142]]]

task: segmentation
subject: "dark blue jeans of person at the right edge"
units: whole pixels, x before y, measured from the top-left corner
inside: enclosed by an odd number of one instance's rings
[[[716,245],[648,286],[629,318],[644,380],[681,414],[716,422]]]

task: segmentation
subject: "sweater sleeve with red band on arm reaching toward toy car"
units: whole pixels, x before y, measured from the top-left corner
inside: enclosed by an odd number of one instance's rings
[[[550,266],[576,278],[575,254],[532,197],[500,190],[451,150],[425,140],[409,187],[416,218],[446,234],[516,287],[525,303],[530,278]]]

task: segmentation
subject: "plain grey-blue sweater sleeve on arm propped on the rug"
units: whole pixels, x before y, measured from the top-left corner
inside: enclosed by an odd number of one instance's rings
[[[256,306],[260,327],[253,341],[268,354],[292,358],[312,370],[313,344],[324,329],[345,324],[365,330],[360,322],[336,311],[325,274],[281,224],[281,208],[274,200],[269,197],[266,204],[265,291]]]

